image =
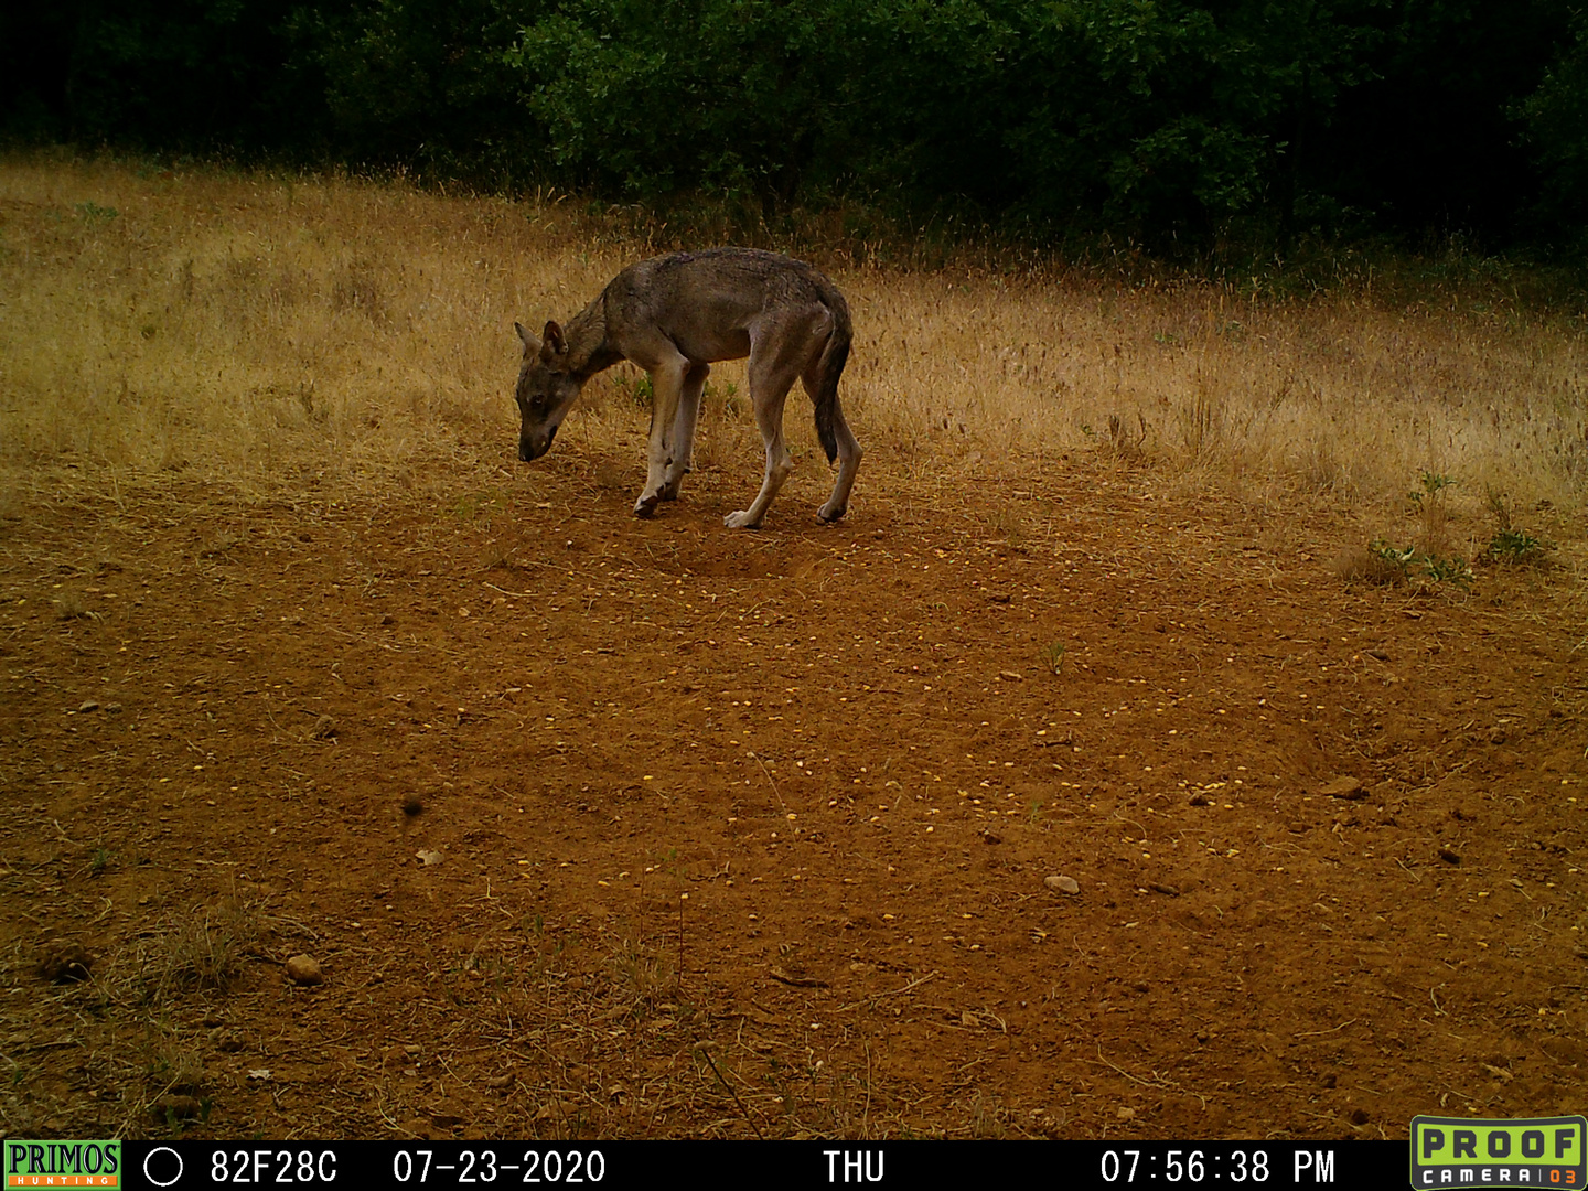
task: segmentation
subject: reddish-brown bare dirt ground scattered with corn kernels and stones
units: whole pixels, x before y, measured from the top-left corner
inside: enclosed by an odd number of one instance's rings
[[[753,459],[630,518],[640,429],[386,484],[33,473],[0,522],[8,1135],[1583,1107],[1550,510],[1553,569],[1375,588],[1329,569],[1345,508],[873,449],[840,526],[807,461],[746,534]]]

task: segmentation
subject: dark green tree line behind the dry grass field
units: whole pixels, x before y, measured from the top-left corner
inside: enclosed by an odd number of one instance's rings
[[[1566,0],[62,0],[0,11],[16,141],[1154,248],[1588,229]]]

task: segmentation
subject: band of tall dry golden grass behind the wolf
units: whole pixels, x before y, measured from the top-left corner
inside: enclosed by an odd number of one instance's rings
[[[268,484],[391,475],[461,438],[505,464],[513,319],[567,318],[645,252],[557,203],[13,157],[0,462]],[[1194,483],[1359,500],[1421,472],[1572,505],[1588,483],[1588,359],[1564,321],[823,264],[854,313],[845,403],[872,473],[1034,470],[1099,446]],[[742,365],[716,370],[702,451],[753,467],[743,384]],[[632,387],[594,383],[557,449],[629,449]],[[815,454],[802,407],[789,429]]]

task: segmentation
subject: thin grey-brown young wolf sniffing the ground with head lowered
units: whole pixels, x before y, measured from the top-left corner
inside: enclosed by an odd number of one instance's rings
[[[818,511],[837,521],[850,503],[861,446],[838,407],[838,376],[850,359],[850,306],[815,268],[754,248],[673,252],[629,265],[573,316],[548,322],[537,340],[519,324],[518,373],[522,427],[518,457],[538,459],[584,381],[618,360],[651,375],[651,443],[635,516],[676,500],[689,470],[700,387],[716,360],[750,357],[750,400],[767,445],[767,473],[750,508],[729,513],[730,529],[756,529],[794,461],[783,445],[783,402],[799,378],[816,405],[816,437],[838,480]]]

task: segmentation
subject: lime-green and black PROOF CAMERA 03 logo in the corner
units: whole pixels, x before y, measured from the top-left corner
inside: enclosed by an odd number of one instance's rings
[[[1583,1188],[1588,1118],[1412,1118],[1412,1186]]]

